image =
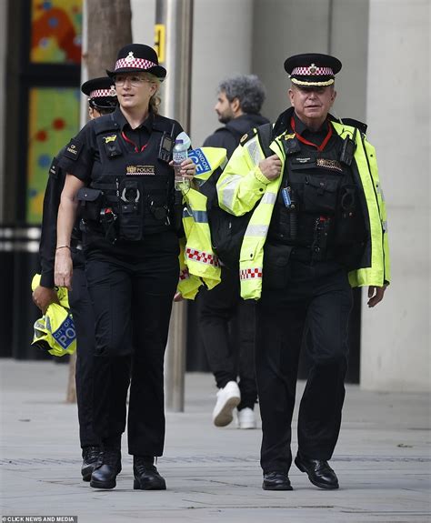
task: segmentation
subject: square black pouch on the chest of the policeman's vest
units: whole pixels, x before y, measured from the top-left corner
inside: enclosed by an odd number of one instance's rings
[[[338,184],[338,180],[306,176],[302,210],[308,213],[334,215]]]

